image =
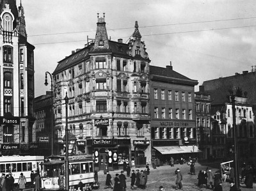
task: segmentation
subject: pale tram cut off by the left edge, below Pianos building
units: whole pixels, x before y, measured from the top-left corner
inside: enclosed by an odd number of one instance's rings
[[[20,173],[26,177],[26,181],[30,179],[31,171],[39,172],[40,163],[44,162],[44,156],[1,156],[0,172],[3,174],[12,173],[14,183],[18,183]]]

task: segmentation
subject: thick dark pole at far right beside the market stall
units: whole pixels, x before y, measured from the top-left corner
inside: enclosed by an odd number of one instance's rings
[[[238,171],[238,157],[237,157],[237,129],[236,129],[236,106],[235,106],[235,96],[231,95],[232,101],[232,113],[233,113],[233,132],[234,132],[234,161],[235,161],[235,187],[236,190],[241,190],[239,184],[239,171]]]

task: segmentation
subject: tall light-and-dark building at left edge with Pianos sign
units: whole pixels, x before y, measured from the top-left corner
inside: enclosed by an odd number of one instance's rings
[[[0,20],[1,155],[33,154],[35,47],[27,41],[21,3],[0,1]]]

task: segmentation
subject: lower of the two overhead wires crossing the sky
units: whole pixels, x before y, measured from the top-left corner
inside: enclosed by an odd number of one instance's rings
[[[143,36],[157,36],[157,35],[166,35],[166,34],[182,34],[182,33],[195,33],[195,32],[204,32],[204,31],[218,31],[218,30],[225,30],[225,29],[239,29],[245,27],[256,27],[256,25],[250,26],[237,26],[237,27],[223,27],[223,28],[216,28],[216,29],[203,29],[203,30],[195,30],[195,31],[180,31],[180,32],[173,32],[173,33],[158,33],[158,34],[143,34]],[[119,37],[119,38],[130,38],[131,36]],[[113,38],[116,39],[116,38]],[[66,41],[66,42],[48,42],[48,43],[33,43],[33,45],[47,45],[47,44],[55,44],[55,43],[68,43],[68,42],[83,42],[86,40],[74,40],[74,41]]]

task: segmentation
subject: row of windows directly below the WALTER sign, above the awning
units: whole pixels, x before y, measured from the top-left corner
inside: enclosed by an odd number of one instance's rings
[[[152,139],[182,139],[189,137],[189,139],[196,139],[196,128],[186,127],[152,127]]]

